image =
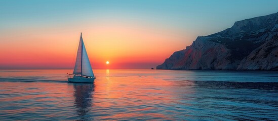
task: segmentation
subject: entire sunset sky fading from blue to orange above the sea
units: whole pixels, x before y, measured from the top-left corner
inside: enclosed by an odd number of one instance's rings
[[[0,69],[150,69],[197,36],[278,12],[278,1],[0,0]],[[109,61],[109,64],[106,64]]]

